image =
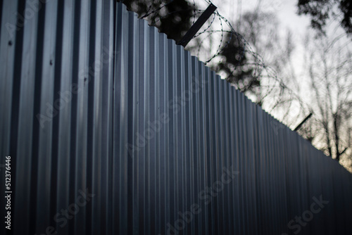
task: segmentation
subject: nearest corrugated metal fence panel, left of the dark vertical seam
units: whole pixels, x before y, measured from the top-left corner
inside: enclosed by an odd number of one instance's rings
[[[1,164],[12,157],[11,231],[111,232],[115,2],[1,4],[0,153]],[[94,200],[55,219],[87,188]]]

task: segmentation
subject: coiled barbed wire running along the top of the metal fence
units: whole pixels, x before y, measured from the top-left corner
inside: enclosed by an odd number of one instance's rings
[[[145,1],[147,0],[144,0],[144,2]],[[189,25],[194,25],[196,20],[199,19],[205,9],[199,8],[195,0],[188,0],[187,2],[189,4],[188,8],[176,8],[177,11],[170,11],[168,6],[174,3],[174,0],[159,0],[158,2],[153,0],[151,1],[151,5],[148,6],[146,13],[140,16],[140,18],[148,20],[151,25],[158,27],[159,21],[163,20],[164,18],[172,17],[174,14],[177,15],[178,13],[187,11],[187,19],[183,19],[183,22],[187,23],[187,20],[189,20]],[[281,1],[275,0],[275,2],[278,3],[276,4],[276,8],[282,6]],[[205,3],[207,6],[212,4],[211,1],[207,0],[203,0],[203,3]],[[239,3],[239,6],[241,6],[241,2]],[[241,9],[237,10],[237,13],[241,13]],[[259,7],[256,8],[256,11],[259,11]],[[274,67],[268,63],[265,63],[265,57],[262,54],[263,51],[260,52],[260,50],[258,50],[259,46],[257,47],[255,44],[252,44],[250,42],[251,38],[246,38],[239,32],[241,30],[241,24],[239,22],[246,23],[245,20],[241,19],[245,15],[246,14],[241,13],[239,18],[236,20],[237,30],[235,30],[230,20],[225,18],[225,16],[222,15],[218,9],[215,10],[203,25],[203,27],[201,27],[199,32],[197,32],[189,44],[187,44],[185,49],[190,51],[194,56],[197,56],[199,61],[203,61],[205,65],[209,66],[215,70],[215,72],[220,74],[222,79],[225,78],[225,80],[230,82],[232,86],[236,87],[240,91],[244,91],[246,96],[262,106],[265,112],[279,120],[279,122],[282,122],[284,125],[291,127],[291,129],[294,129],[294,127],[296,127],[296,125],[298,125],[298,123],[303,120],[303,118],[306,118],[309,113],[312,113],[313,117],[310,118],[302,126],[302,132],[301,130],[298,130],[298,133],[303,134],[303,136],[306,137],[308,141],[312,141],[314,138],[318,139],[319,145],[319,139],[323,138],[322,132],[313,133],[311,129],[319,128],[318,125],[315,124],[322,123],[320,116],[315,113],[314,108],[312,108],[309,103],[303,101],[302,97],[299,96],[299,89],[298,93],[296,93],[287,85],[289,80],[285,82],[284,79],[286,77],[284,77],[282,74],[282,68],[279,68],[279,72],[277,72],[278,68],[275,63],[272,64],[275,65]],[[181,36],[183,35],[180,35],[180,37]],[[230,48],[234,45],[237,45],[240,49],[231,51]],[[255,48],[252,46],[255,46]],[[272,51],[270,51],[270,54],[271,52]],[[235,61],[232,61],[232,67],[229,67],[230,73],[227,73],[229,71],[219,69],[219,65],[226,62],[226,53],[234,53],[232,57],[236,58]],[[272,56],[274,56],[276,61],[286,61],[287,58],[285,58],[285,55],[286,54],[284,53],[272,53]],[[241,62],[244,59],[245,63]],[[291,64],[288,65],[291,66]],[[247,68],[247,70],[252,70],[253,72],[252,77],[254,80],[249,81],[249,87],[251,84],[255,84],[255,80],[259,81],[259,86],[255,87],[257,86],[256,84],[254,86],[254,92],[250,90],[247,90],[250,91],[247,92],[246,89],[241,88],[241,86],[245,87],[246,82],[248,81],[237,80],[236,83],[228,79],[231,75],[233,75],[233,77],[238,77],[239,72],[241,72],[241,70],[243,72],[244,68]],[[320,147],[317,146],[317,148]],[[325,151],[326,153],[325,147],[322,147],[321,150]]]

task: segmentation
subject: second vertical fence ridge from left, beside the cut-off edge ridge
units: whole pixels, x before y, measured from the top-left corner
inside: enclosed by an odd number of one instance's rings
[[[27,2],[25,7],[29,7]],[[38,14],[33,13],[31,20],[25,23],[23,28],[23,55],[22,68],[20,70],[20,97],[18,110],[18,139],[17,139],[17,155],[15,159],[16,170],[21,172],[20,177],[15,177],[15,191],[20,195],[28,195],[28,198],[15,198],[15,214],[17,215],[15,222],[21,222],[21,226],[14,227],[14,231],[25,233],[30,231],[30,205],[35,203],[33,196],[34,191],[30,193],[31,183],[35,178],[32,177],[32,133],[34,119],[34,84],[35,84],[35,60],[37,54],[37,20]],[[28,141],[30,140],[30,141]],[[37,158],[37,156],[34,156]],[[34,164],[35,167],[35,164]],[[14,223],[15,223],[14,222]],[[33,222],[33,221],[31,221]]]

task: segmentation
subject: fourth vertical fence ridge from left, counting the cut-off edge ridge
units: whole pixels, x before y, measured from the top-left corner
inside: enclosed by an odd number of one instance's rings
[[[70,168],[72,167],[71,151],[71,132],[74,128],[71,125],[72,115],[72,103],[75,101],[75,93],[73,92],[73,40],[74,40],[74,18],[73,13],[75,12],[75,4],[73,2],[65,2],[63,4],[63,15],[62,18],[58,19],[62,21],[63,33],[62,33],[62,51],[61,53],[61,77],[57,77],[57,80],[61,80],[60,90],[69,97],[69,102],[65,103],[65,106],[58,113],[58,163],[57,163],[57,184],[56,184],[56,212],[59,212],[62,208],[66,208],[70,205],[70,182],[72,176],[70,175]],[[77,84],[75,84],[77,86]],[[56,217],[58,218],[58,217]],[[56,229],[58,234],[68,234],[69,226],[65,224],[62,226],[61,222],[58,222]]]

